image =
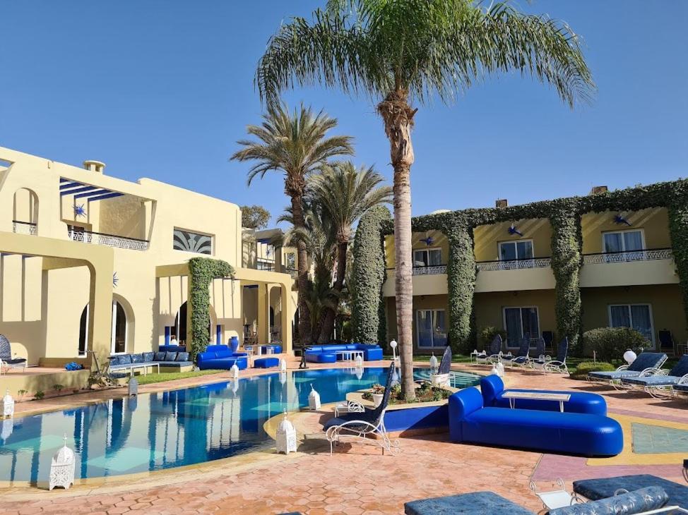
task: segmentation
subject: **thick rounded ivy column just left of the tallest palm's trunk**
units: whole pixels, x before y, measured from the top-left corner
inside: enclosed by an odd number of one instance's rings
[[[351,323],[353,341],[382,344],[386,339],[384,298],[385,255],[382,223],[391,214],[384,206],[373,207],[361,217],[354,240]]]

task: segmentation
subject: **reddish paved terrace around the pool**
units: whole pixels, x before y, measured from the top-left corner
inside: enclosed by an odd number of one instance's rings
[[[297,360],[292,360],[289,367],[297,368],[297,364]],[[462,367],[454,365],[453,368]],[[485,367],[471,369],[485,370]],[[265,371],[246,370],[242,371],[242,377],[260,373]],[[585,459],[453,444],[448,435],[439,434],[403,438],[401,456],[382,456],[379,449],[361,444],[344,445],[330,456],[319,429],[320,421],[328,416],[323,410],[297,417],[297,426],[312,435],[307,435],[298,453],[289,456],[256,452],[159,473],[88,480],[66,491],[47,492],[42,485],[13,487],[0,490],[0,513],[400,514],[403,503],[409,500],[475,490],[493,490],[537,511],[541,504],[528,490],[531,479],[540,489],[558,477],[570,489],[576,479],[633,473],[651,473],[683,482],[680,463],[688,456],[685,401],[630,395],[535,371],[507,370],[506,376],[509,387],[580,389],[603,394],[610,416],[624,426],[624,452],[610,459]],[[221,374],[152,384],[141,387],[141,394],[227,380],[227,377],[228,374]],[[121,396],[118,392],[90,392],[21,403],[17,405],[17,413],[100,401]],[[636,444],[642,445],[643,454],[631,453],[631,423],[642,425],[643,435]],[[668,432],[674,435],[670,448],[664,443]],[[683,437],[676,440],[676,435]],[[648,449],[652,452],[648,453]]]

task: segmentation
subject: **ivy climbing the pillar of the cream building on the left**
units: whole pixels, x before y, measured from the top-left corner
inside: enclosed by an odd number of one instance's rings
[[[233,277],[234,268],[223,260],[210,257],[192,257],[189,260],[189,281],[191,290],[191,359],[203,352],[210,341],[210,282],[213,279]]]

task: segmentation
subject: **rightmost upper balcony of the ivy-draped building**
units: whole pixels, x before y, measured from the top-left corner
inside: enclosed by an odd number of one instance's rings
[[[583,255],[581,287],[678,284],[670,248]]]

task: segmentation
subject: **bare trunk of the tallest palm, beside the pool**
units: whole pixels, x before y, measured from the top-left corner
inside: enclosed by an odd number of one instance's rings
[[[415,399],[413,383],[413,286],[411,283],[411,128],[415,111],[408,105],[408,91],[397,88],[377,107],[389,139],[394,168],[394,258],[396,272],[396,326],[401,356],[401,388],[407,400]]]

